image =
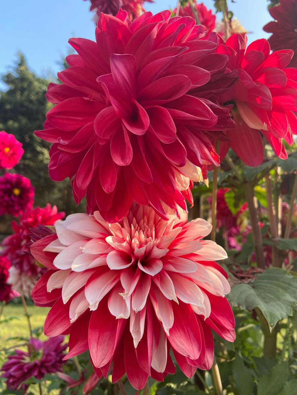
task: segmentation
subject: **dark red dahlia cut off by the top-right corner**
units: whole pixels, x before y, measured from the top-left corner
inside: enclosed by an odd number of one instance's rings
[[[269,13],[275,21],[267,23],[263,30],[272,33],[268,42],[273,51],[293,49],[294,56],[289,67],[297,67],[297,8],[296,0],[280,0],[280,5],[271,7]]]

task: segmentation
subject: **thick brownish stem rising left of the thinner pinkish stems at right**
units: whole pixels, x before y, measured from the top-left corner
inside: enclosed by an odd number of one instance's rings
[[[251,232],[253,237],[253,243],[255,246],[255,255],[257,265],[261,269],[265,269],[265,261],[263,254],[262,236],[259,226],[259,218],[257,212],[257,199],[255,197],[254,185],[250,182],[244,184],[246,192],[247,205],[249,207],[249,220],[251,222]]]

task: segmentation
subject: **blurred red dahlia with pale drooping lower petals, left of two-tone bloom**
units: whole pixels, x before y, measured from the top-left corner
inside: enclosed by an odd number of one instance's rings
[[[27,210],[19,218],[19,223],[11,223],[14,233],[7,236],[1,243],[2,254],[6,255],[11,262],[8,282],[13,288],[24,295],[30,292],[45,269],[36,265],[34,258],[30,255],[28,243],[30,243],[32,229],[38,225],[54,225],[55,222],[65,216],[58,213],[57,207],[46,205],[46,207]]]

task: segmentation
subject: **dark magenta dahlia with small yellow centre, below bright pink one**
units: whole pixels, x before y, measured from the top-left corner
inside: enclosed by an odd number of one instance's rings
[[[29,178],[20,174],[5,173],[0,177],[0,215],[17,217],[30,210],[34,202],[34,186]]]

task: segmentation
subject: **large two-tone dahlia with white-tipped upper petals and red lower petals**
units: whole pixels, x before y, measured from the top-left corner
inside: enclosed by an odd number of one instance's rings
[[[110,224],[98,211],[71,214],[55,225],[57,234],[31,246],[48,267],[32,290],[38,305],[52,306],[44,333],[70,333],[67,358],[89,349],[95,371],[112,381],[125,372],[141,389],[148,376],[162,381],[213,363],[211,329],[235,338],[225,271],[214,260],[227,258],[213,241],[202,240],[211,225],[164,206],[166,221],[151,207],[134,205]],[[53,304],[54,303],[54,304]]]

